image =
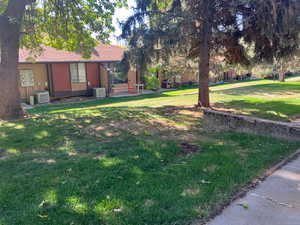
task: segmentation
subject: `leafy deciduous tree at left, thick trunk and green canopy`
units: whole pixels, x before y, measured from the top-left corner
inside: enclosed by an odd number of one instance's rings
[[[113,30],[112,15],[122,0],[0,0],[0,118],[21,115],[19,48],[42,45],[76,51],[88,57]]]

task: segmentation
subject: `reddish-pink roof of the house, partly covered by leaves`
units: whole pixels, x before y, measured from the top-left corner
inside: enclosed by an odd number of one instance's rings
[[[100,44],[92,50],[89,59],[83,58],[75,52],[57,50],[52,47],[44,46],[41,55],[34,57],[27,49],[20,49],[19,63],[50,63],[50,62],[116,62],[121,61],[124,49],[115,45]]]

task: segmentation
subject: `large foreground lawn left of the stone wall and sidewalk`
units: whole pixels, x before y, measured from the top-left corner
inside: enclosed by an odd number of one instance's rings
[[[229,87],[213,87],[214,98]],[[208,132],[188,107],[194,91],[39,107],[0,122],[0,224],[200,224],[299,148]]]

